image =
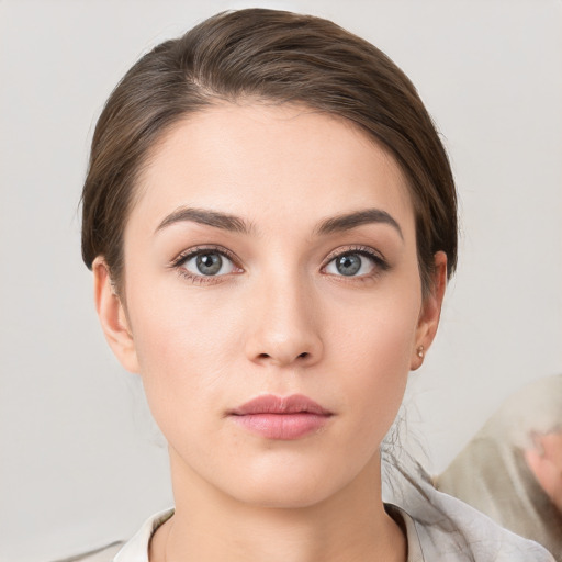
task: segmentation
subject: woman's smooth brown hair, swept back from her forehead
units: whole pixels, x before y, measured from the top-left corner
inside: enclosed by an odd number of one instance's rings
[[[345,117],[402,167],[416,220],[419,271],[457,263],[457,198],[445,148],[416,89],[381,50],[338,25],[290,12],[223,12],[143,56],[109,98],[82,192],[82,257],[123,273],[123,231],[150,148],[189,113],[218,100],[300,103]]]

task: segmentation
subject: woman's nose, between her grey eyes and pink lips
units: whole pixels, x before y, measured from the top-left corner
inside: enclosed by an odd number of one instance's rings
[[[247,358],[259,364],[307,367],[323,353],[316,300],[297,279],[261,280],[248,311]]]

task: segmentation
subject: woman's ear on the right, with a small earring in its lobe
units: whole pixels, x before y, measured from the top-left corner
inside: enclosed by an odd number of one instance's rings
[[[416,341],[412,350],[411,369],[415,371],[422,367],[424,357],[439,326],[441,306],[443,303],[445,289],[447,286],[447,255],[438,251],[435,256],[435,270],[429,293],[424,297],[416,329]]]

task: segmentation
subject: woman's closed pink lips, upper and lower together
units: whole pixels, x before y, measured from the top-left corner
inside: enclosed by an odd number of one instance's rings
[[[231,418],[268,439],[300,439],[322,429],[331,412],[302,394],[258,396],[229,412]]]

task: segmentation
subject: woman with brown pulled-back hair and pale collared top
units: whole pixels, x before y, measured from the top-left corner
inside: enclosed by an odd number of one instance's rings
[[[175,510],[119,562],[551,560],[380,447],[435,337],[456,193],[417,93],[335,24],[218,14],[98,122],[82,254],[169,445]]]

